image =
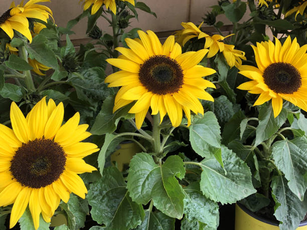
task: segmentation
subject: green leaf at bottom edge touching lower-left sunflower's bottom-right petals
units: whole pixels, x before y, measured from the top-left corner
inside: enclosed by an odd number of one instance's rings
[[[86,215],[89,214],[86,200],[80,200],[76,195],[70,194],[68,202],[62,201],[60,207],[66,212],[70,230],[78,230],[84,227]]]

